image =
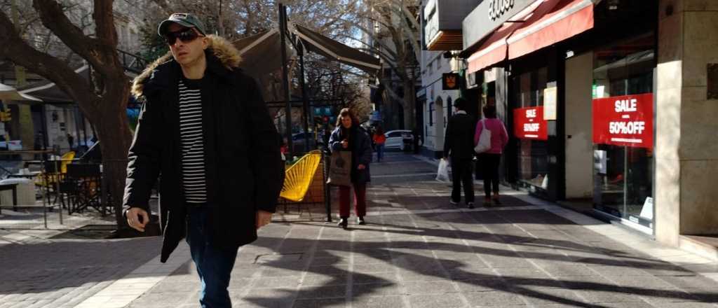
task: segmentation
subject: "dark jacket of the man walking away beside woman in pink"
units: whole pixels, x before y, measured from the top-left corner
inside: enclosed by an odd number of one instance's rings
[[[467,160],[474,157],[474,117],[466,113],[457,113],[449,118],[444,137],[444,156],[454,160]]]

